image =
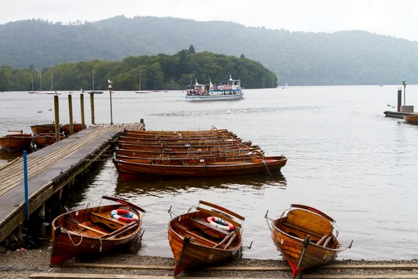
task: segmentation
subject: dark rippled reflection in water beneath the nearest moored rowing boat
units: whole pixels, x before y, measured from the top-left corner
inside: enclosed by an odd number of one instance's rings
[[[265,174],[244,174],[240,176],[225,177],[196,177],[185,179],[163,179],[155,181],[154,178],[137,176],[118,176],[116,195],[155,195],[156,193],[173,193],[176,191],[195,189],[229,189],[237,187],[251,187],[263,189],[265,187],[286,189],[286,177],[281,172],[272,172],[271,176]]]

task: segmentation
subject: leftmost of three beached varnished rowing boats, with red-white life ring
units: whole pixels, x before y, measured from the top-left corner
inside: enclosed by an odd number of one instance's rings
[[[94,255],[126,246],[141,237],[141,207],[116,197],[102,197],[116,204],[70,211],[52,221],[51,265],[80,255]],[[123,222],[111,217],[111,211],[125,210],[136,214],[136,221]],[[130,222],[130,223],[128,223]]]

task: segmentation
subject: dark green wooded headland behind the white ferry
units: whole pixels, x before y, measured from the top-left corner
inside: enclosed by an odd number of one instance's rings
[[[185,89],[192,79],[200,84],[218,82],[229,78],[241,80],[245,88],[272,88],[277,86],[277,77],[261,63],[212,52],[197,52],[193,45],[188,50],[167,55],[129,56],[123,61],[93,60],[77,63],[59,63],[53,67],[36,70],[29,68],[0,67],[0,91],[42,90],[91,90],[107,89],[107,80],[114,82],[114,90],[134,91],[160,89]],[[141,75],[141,76],[140,76]],[[141,77],[141,78],[140,78]],[[51,79],[54,79],[53,81]],[[52,81],[52,83],[51,83]],[[52,84],[52,88],[51,88]],[[42,86],[42,87],[41,87]]]

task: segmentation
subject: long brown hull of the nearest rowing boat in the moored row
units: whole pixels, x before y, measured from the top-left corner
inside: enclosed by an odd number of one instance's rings
[[[238,174],[251,174],[257,172],[276,172],[286,165],[284,156],[265,157],[259,163],[216,163],[207,164],[203,158],[196,165],[155,165],[134,163],[127,160],[115,160],[114,165],[119,174],[153,175],[153,176],[229,176]],[[202,162],[203,161],[203,162]],[[199,164],[199,165],[197,165]]]

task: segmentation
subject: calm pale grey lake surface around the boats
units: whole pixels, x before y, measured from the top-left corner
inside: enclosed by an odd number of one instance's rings
[[[267,156],[284,155],[281,174],[215,179],[143,181],[118,176],[111,158],[72,207],[98,204],[102,195],[130,199],[146,209],[140,255],[171,257],[167,211],[185,213],[199,199],[246,217],[244,257],[279,259],[264,219],[289,205],[308,204],[336,220],[339,241],[353,248],[339,259],[412,259],[418,256],[418,126],[386,118],[398,86],[306,86],[245,90],[245,99],[187,103],[182,91],[112,94],[114,123],[144,119],[147,130],[227,128]],[[68,123],[68,94],[61,94],[61,123]],[[84,94],[90,123],[89,95]],[[72,94],[80,122],[79,92]],[[418,86],[407,86],[407,105],[418,110]],[[54,120],[51,95],[0,93],[0,135],[31,133]],[[38,111],[42,110],[42,113]],[[95,122],[109,123],[109,93],[95,96]],[[5,156],[3,153],[2,156]],[[0,158],[0,165],[6,159]]]

